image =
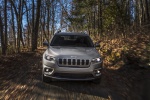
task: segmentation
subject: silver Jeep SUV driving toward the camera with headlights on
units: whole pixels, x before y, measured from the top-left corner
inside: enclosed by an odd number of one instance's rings
[[[102,58],[86,33],[57,32],[43,54],[43,82],[58,80],[101,80]]]

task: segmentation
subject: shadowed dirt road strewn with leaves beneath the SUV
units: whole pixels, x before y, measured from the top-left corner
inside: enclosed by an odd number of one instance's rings
[[[137,100],[149,99],[143,92],[135,93],[138,90],[136,86],[139,86],[140,82],[137,85],[134,85],[134,82],[138,82],[138,76],[143,80],[142,77],[147,74],[141,76],[142,73],[148,73],[145,69],[137,70],[135,73],[133,70],[104,69],[101,84],[76,81],[43,83],[41,60],[40,53],[21,53],[0,57],[0,100],[12,98],[21,100],[131,100],[137,95]],[[148,79],[142,81],[142,86],[149,85]],[[145,91],[147,88],[141,87],[140,89]]]

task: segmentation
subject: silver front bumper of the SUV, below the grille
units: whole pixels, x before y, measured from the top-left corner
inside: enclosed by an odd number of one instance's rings
[[[94,80],[101,77],[102,62],[91,63],[88,68],[59,67],[53,61],[43,61],[42,73],[45,77],[57,80]]]

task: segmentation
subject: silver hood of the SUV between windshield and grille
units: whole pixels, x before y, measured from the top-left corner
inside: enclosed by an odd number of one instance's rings
[[[98,51],[94,47],[49,47],[48,53],[53,56],[75,56],[75,57],[99,57]]]

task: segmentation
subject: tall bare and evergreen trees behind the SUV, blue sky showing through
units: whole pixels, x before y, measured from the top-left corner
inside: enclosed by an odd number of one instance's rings
[[[2,55],[35,51],[57,30],[95,40],[150,32],[150,0],[0,0]]]

